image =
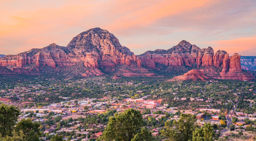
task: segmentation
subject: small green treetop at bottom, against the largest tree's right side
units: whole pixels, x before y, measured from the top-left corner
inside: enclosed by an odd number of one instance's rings
[[[131,141],[152,141],[154,137],[152,137],[151,132],[145,127],[142,127],[141,132],[137,133]]]

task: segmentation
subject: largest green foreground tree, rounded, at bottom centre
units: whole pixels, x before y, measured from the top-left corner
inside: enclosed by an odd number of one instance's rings
[[[123,113],[116,113],[109,117],[108,126],[100,140],[131,141],[140,132],[142,123],[142,115],[138,110],[128,109]]]

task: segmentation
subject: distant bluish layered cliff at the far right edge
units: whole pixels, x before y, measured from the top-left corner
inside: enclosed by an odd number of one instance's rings
[[[256,71],[256,56],[241,56],[241,68]]]

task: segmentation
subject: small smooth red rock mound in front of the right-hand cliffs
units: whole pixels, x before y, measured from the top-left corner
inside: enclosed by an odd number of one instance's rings
[[[198,69],[189,70],[184,75],[175,76],[171,80],[208,80],[207,76]]]

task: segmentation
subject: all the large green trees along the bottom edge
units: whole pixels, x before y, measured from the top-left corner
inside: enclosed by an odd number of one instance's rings
[[[19,109],[15,106],[2,104],[0,106],[0,133],[1,140],[37,141],[41,137],[41,123],[32,122],[31,119],[22,119],[18,123]],[[195,125],[195,116],[181,114],[178,121],[165,122],[163,135],[169,140],[214,140],[215,133],[212,125],[205,124],[201,128]],[[62,136],[56,134],[52,141],[62,140]],[[109,117],[108,126],[98,140],[125,140],[153,141],[151,132],[144,126],[144,121],[139,110],[128,109],[123,113],[116,113]]]

